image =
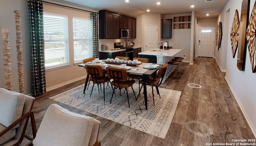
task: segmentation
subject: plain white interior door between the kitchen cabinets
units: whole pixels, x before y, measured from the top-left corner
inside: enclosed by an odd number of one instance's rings
[[[153,50],[157,48],[157,25],[145,26],[145,48],[144,51]]]

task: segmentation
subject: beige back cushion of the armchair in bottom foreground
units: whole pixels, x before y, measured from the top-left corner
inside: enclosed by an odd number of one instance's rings
[[[40,124],[34,146],[88,146],[94,118],[51,104]]]

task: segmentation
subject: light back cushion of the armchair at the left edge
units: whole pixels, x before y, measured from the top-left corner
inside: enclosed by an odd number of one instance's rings
[[[18,120],[22,116],[24,102],[24,94],[0,88],[0,124],[8,127]],[[20,124],[16,125],[13,129],[19,126]]]

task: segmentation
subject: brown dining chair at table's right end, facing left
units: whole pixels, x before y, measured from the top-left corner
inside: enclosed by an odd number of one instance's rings
[[[159,95],[159,98],[161,98],[158,86],[160,86],[162,84],[162,81],[164,79],[164,74],[166,72],[166,69],[167,69],[167,63],[165,63],[163,66],[161,66],[159,68],[156,77],[154,77],[154,76],[147,76],[146,77],[146,85],[149,85],[152,88],[152,95],[153,95],[154,105],[155,105],[155,100],[154,100],[154,90],[153,90],[153,87],[154,86],[156,87],[156,92]],[[142,80],[140,82],[143,83]],[[146,85],[143,85],[143,86],[146,86]],[[141,91],[143,86],[140,87],[140,91]],[[140,94],[140,91],[139,91],[139,94]]]

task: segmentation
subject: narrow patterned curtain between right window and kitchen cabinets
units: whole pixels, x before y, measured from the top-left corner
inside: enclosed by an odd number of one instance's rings
[[[92,22],[92,46],[94,50],[93,56],[95,58],[99,58],[99,39],[98,39],[98,14],[97,13],[91,13],[91,22]]]

